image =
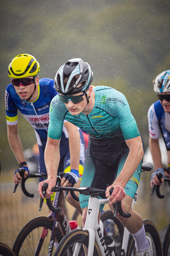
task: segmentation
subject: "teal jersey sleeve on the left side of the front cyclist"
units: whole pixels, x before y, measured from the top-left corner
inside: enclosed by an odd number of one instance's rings
[[[51,100],[49,112],[50,120],[48,126],[48,137],[54,140],[59,140],[62,136],[64,114],[62,108],[60,108],[61,103],[62,102],[61,100],[59,100],[58,95]]]

